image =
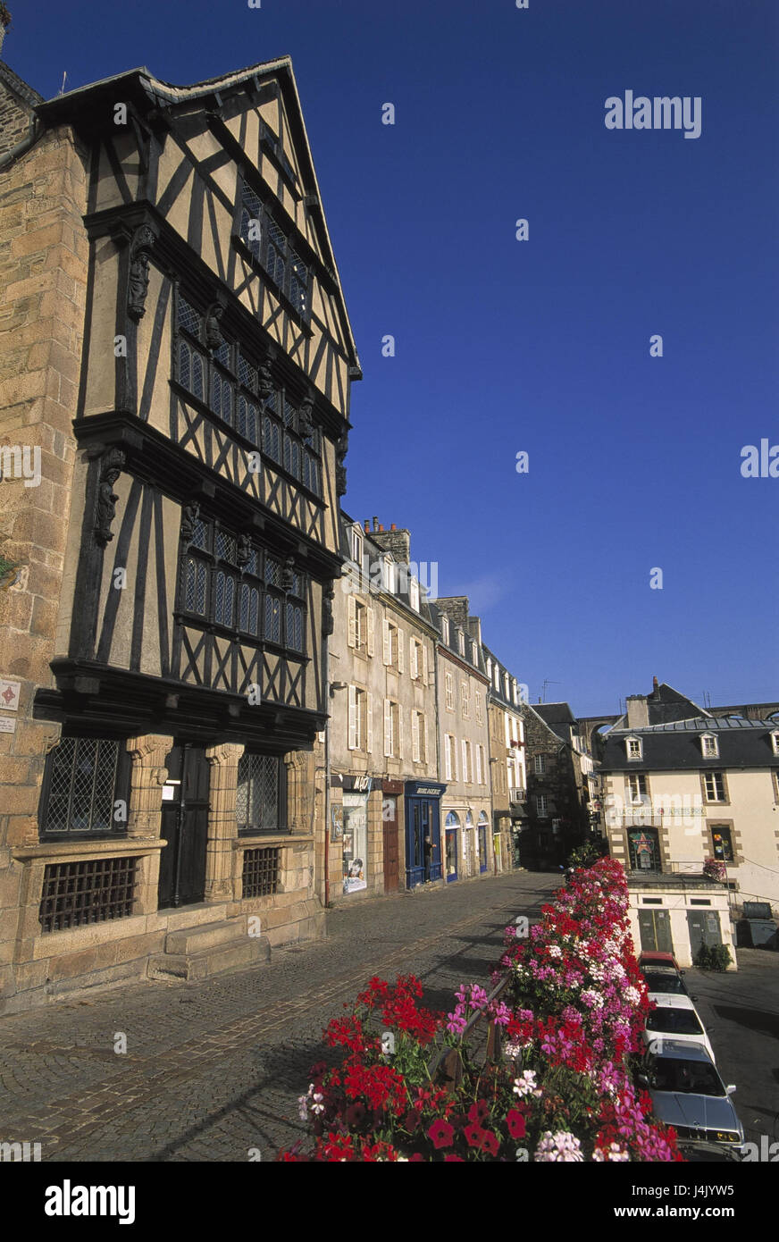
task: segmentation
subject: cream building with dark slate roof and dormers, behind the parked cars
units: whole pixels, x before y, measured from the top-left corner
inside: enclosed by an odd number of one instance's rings
[[[626,707],[603,746],[609,847],[641,944],[672,941],[688,963],[702,943],[731,943],[743,900],[779,913],[779,722],[713,715],[665,686]]]

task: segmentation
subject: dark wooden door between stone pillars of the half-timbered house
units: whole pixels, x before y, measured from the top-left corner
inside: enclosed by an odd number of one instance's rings
[[[166,759],[173,797],[163,801],[159,909],[191,905],[205,897],[209,836],[209,764],[203,746],[174,746]]]

